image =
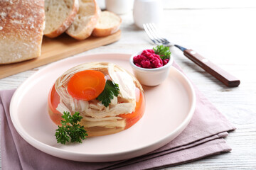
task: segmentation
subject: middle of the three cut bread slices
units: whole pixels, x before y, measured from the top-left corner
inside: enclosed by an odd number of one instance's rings
[[[92,34],[99,18],[100,8],[95,0],[79,0],[78,14],[66,33],[77,40],[85,40]]]

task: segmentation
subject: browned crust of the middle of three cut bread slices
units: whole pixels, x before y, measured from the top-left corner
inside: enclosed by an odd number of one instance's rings
[[[75,33],[75,31],[73,31],[73,29],[71,28],[72,27],[71,25],[70,28],[68,28],[68,30],[66,30],[65,33],[67,33],[68,35],[70,35],[71,37],[77,40],[85,40],[86,38],[90,37],[93,29],[97,24],[97,21],[100,18],[100,12],[101,12],[100,7],[97,5],[97,2],[95,0],[92,0],[92,2],[95,4],[94,6],[95,13],[92,16],[90,16],[90,21],[86,24],[86,26],[84,26],[84,28],[79,33]],[[76,19],[79,19],[79,18],[76,18]]]

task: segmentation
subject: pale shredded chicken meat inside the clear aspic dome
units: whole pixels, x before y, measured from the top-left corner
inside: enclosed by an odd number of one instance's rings
[[[106,79],[111,79],[119,84],[119,95],[112,99],[110,106],[105,107],[100,101],[83,101],[72,98],[68,94],[68,81],[77,72],[86,69],[98,70],[105,74]],[[135,82],[135,83],[134,83]],[[137,80],[130,76],[121,67],[110,63],[87,63],[68,70],[55,82],[55,89],[60,96],[60,103],[56,108],[63,113],[68,111],[80,112],[83,116],[85,128],[100,126],[105,128],[124,127],[125,122],[118,115],[129,114],[135,110],[136,106],[136,83]],[[142,89],[142,86],[139,86]]]

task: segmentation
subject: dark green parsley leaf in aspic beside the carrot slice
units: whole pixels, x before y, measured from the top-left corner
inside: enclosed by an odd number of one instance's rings
[[[102,93],[97,96],[97,100],[101,101],[102,104],[107,107],[110,105],[111,100],[114,98],[114,96],[118,96],[119,94],[119,86],[118,84],[115,84],[111,80],[106,81],[106,85]]]

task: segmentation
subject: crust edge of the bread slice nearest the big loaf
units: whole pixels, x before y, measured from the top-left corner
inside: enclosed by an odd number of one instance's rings
[[[55,38],[58,35],[64,33],[65,30],[67,30],[68,27],[75,20],[75,16],[78,13],[78,9],[79,9],[79,1],[73,0],[73,8],[72,8],[72,11],[70,12],[70,15],[67,18],[65,18],[65,21],[57,29],[53,30],[50,33],[44,33],[44,35],[46,35],[49,38]]]

